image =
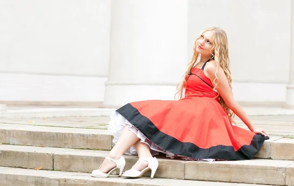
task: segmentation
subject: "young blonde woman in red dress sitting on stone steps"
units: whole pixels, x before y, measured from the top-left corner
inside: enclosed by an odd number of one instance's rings
[[[121,176],[123,154],[139,156],[123,174],[133,178],[147,170],[153,178],[158,161],[152,155],[159,152],[185,160],[251,159],[269,137],[235,102],[231,82],[227,36],[219,27],[208,28],[195,41],[192,61],[177,86],[179,100],[133,102],[113,113],[108,129],[116,145],[92,176],[108,177],[116,168]],[[250,131],[234,125],[234,114]]]

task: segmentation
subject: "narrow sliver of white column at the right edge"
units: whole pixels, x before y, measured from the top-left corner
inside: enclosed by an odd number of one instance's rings
[[[294,108],[294,1],[291,0],[291,54],[286,104]]]

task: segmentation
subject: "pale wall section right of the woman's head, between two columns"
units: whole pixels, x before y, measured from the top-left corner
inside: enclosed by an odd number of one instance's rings
[[[236,99],[285,101],[290,4],[290,0],[189,0],[188,59],[198,33],[219,26],[228,36]]]

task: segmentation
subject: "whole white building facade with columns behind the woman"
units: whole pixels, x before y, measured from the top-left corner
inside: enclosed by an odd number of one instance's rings
[[[1,0],[0,102],[171,100],[207,27],[239,102],[294,106],[293,0]]]

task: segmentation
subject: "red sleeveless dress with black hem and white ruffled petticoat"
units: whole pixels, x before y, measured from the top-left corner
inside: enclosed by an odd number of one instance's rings
[[[253,158],[269,138],[232,125],[217,96],[203,69],[193,68],[187,78],[185,98],[127,103],[116,110],[108,129],[116,142],[118,130],[124,126],[115,121],[119,115],[155,151],[191,160]],[[131,151],[129,154],[135,154]]]

